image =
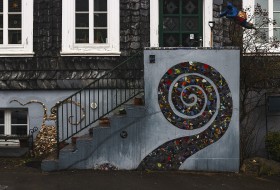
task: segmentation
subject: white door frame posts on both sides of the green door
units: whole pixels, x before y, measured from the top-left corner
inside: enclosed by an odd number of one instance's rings
[[[213,0],[203,0],[203,46],[211,46],[211,29],[209,21],[213,21]],[[150,46],[159,47],[159,0],[150,0]]]

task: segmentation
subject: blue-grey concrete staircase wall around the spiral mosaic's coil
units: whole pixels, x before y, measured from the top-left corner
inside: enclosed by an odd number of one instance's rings
[[[155,55],[155,63],[150,63],[150,55]],[[188,61],[207,63],[204,66],[213,68],[216,76],[220,73],[226,83],[226,88],[221,88],[231,95],[229,105],[224,105],[226,94],[218,87],[214,118],[185,130],[165,118],[159,107],[158,87],[170,67]],[[89,169],[109,164],[118,169],[238,171],[239,50],[146,50],[144,64],[145,107],[127,107],[126,116],[110,118],[110,127],[95,128],[91,138],[78,139],[75,150],[61,151],[57,168]],[[223,106],[229,109],[223,110]],[[219,123],[224,118],[221,113],[228,114],[229,120]],[[215,134],[217,128],[223,130]],[[122,131],[127,132],[126,138],[120,136]],[[50,169],[46,162],[43,168]]]

